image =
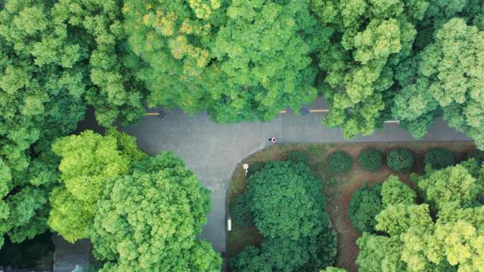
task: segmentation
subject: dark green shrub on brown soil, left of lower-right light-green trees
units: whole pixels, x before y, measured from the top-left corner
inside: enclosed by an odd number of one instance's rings
[[[372,187],[365,184],[351,196],[348,215],[350,215],[351,223],[359,232],[374,233],[375,216],[382,210],[381,184],[375,184]]]

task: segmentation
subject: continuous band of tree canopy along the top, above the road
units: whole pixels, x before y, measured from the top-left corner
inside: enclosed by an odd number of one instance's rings
[[[6,0],[0,8],[2,146],[24,166],[23,146],[69,133],[86,104],[104,126],[137,121],[145,103],[240,122],[299,112],[323,95],[324,123],[346,137],[386,119],[421,137],[443,115],[483,148],[482,0]]]

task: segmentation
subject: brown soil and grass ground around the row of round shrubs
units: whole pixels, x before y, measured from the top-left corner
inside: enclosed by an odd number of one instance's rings
[[[338,232],[338,256],[335,266],[346,268],[348,272],[357,272],[355,261],[359,249],[356,244],[359,232],[352,226],[348,216],[348,207],[353,192],[365,183],[374,184],[384,182],[389,175],[397,175],[403,182],[410,182],[410,174],[398,174],[386,167],[384,164],[380,170],[369,172],[362,170],[357,163],[357,156],[364,148],[376,148],[386,154],[396,147],[409,148],[415,153],[415,167],[413,172],[423,172],[423,158],[427,150],[434,147],[442,147],[454,153],[456,162],[465,160],[467,153],[474,150],[473,142],[414,142],[414,143],[335,143],[335,144],[282,144],[265,148],[253,153],[244,159],[234,170],[231,179],[229,193],[227,195],[226,211],[230,211],[231,203],[238,194],[241,194],[246,187],[245,170],[242,165],[253,162],[269,160],[285,160],[290,150],[305,151],[310,158],[310,167],[316,177],[321,179],[323,194],[326,199],[325,211],[330,215],[333,227]],[[342,175],[332,176],[327,171],[327,158],[335,150],[345,150],[353,158],[352,169]],[[241,227],[232,224],[232,231],[226,233],[226,254],[227,257],[236,256],[244,247],[252,244],[260,246],[263,237],[260,236],[256,227]]]

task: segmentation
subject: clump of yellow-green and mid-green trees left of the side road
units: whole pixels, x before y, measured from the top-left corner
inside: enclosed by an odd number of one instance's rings
[[[198,240],[209,191],[180,158],[149,157],[115,130],[59,138],[52,150],[62,182],[50,195],[50,227],[72,242],[90,238],[100,271],[220,270],[220,256]]]

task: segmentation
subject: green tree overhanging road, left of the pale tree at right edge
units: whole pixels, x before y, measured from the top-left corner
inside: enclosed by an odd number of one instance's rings
[[[427,1],[313,0],[311,9],[332,30],[319,54],[319,88],[330,106],[323,123],[346,138],[369,135],[391,118],[394,71],[410,56]]]

